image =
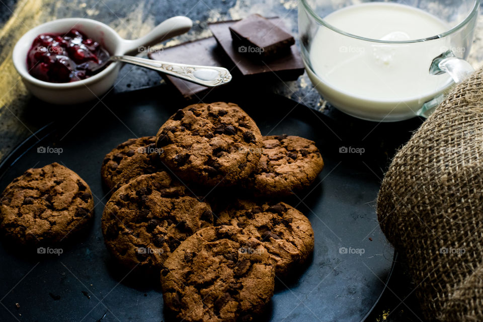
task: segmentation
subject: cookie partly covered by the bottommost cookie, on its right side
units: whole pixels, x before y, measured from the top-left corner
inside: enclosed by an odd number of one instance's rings
[[[262,242],[275,263],[277,276],[286,276],[313,251],[310,221],[286,203],[237,200],[217,215],[217,225],[238,226]]]

